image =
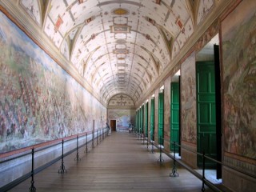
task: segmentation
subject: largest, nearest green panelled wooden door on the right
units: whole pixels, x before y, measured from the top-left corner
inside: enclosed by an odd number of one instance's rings
[[[216,106],[214,62],[197,62],[198,152],[216,158]],[[206,166],[215,163],[206,159]],[[202,157],[198,156],[198,166]]]

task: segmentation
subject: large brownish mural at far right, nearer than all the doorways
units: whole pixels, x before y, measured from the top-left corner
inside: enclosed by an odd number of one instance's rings
[[[239,15],[239,17],[237,17]],[[243,1],[222,22],[224,147],[256,158],[256,4]]]

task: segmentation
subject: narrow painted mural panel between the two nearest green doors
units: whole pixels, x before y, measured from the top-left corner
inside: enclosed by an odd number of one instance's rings
[[[193,52],[181,66],[182,141],[196,144],[197,110],[195,53]]]

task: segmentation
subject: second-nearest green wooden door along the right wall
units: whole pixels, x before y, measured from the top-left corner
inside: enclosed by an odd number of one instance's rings
[[[170,142],[179,143],[179,83],[170,83]],[[170,150],[174,151],[174,145],[170,145]],[[175,152],[178,152],[178,146],[175,146]]]

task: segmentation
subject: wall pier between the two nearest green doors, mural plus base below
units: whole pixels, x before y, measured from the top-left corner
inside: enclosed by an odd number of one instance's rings
[[[182,146],[196,150],[197,108],[194,52],[181,65],[181,90],[181,143]],[[196,155],[185,149],[181,152],[182,160],[196,167]]]

